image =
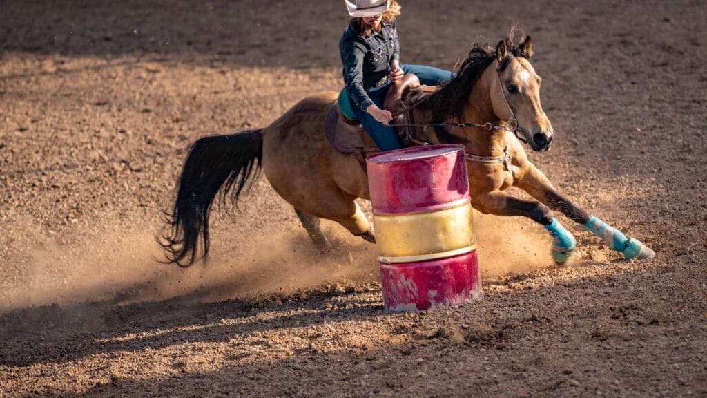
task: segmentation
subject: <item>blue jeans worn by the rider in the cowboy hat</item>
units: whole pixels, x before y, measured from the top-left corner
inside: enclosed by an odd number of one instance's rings
[[[442,84],[444,81],[447,81],[452,77],[452,72],[445,71],[444,69],[427,67],[425,65],[402,64],[400,65],[400,69],[402,69],[405,73],[416,74],[420,79],[420,83],[428,86]],[[391,86],[392,84],[387,82],[382,86],[368,90],[368,96],[371,101],[378,106],[378,108],[383,108],[385,95],[388,93],[388,89],[390,89]],[[351,101],[350,98],[349,101]],[[351,101],[351,103],[354,102]],[[395,132],[393,127],[378,122],[378,120],[375,120],[370,113],[366,112],[366,110],[358,109],[356,106],[352,108],[354,108],[354,113],[356,113],[356,118],[358,118],[358,121],[361,122],[363,128],[366,129],[368,135],[373,138],[373,141],[375,141],[375,144],[378,145],[381,151],[390,151],[401,147],[397,132]]]

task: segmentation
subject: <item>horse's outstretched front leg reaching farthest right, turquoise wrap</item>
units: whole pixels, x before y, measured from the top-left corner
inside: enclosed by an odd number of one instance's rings
[[[621,251],[626,259],[655,257],[655,252],[645,244],[641,244],[641,241],[627,238],[618,229],[585,212],[559,193],[542,171],[533,164],[528,165],[527,172],[516,181],[515,186],[530,193],[533,198],[545,203],[551,209],[558,210],[574,222],[582,224],[592,234],[603,239],[611,249]]]

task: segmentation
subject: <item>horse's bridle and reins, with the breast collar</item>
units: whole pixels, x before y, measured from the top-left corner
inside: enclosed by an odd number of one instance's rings
[[[503,72],[506,67],[504,65],[507,65],[508,62],[510,62],[515,55],[508,55],[506,60],[503,62],[503,64],[499,64],[498,67],[496,68],[496,76],[498,76],[498,86],[501,88],[501,93],[503,93],[503,101],[506,102],[506,106],[508,107],[508,110],[510,111],[510,118],[506,120],[503,125],[494,125],[491,122],[486,122],[486,123],[453,123],[453,122],[442,122],[442,123],[420,123],[420,124],[406,124],[406,125],[399,125],[399,124],[393,124],[392,126],[395,127],[421,127],[423,131],[427,130],[428,127],[441,127],[441,128],[454,128],[454,127],[461,127],[462,130],[464,130],[465,127],[483,127],[486,130],[492,131],[492,130],[505,130],[507,132],[513,132],[516,138],[518,138],[519,141],[527,144],[527,140],[525,137],[522,137],[521,135],[518,135],[518,132],[522,132],[524,135],[527,137],[527,132],[525,131],[524,128],[520,127],[518,125],[518,119],[515,117],[515,111],[513,111],[513,108],[510,106],[510,103],[508,102],[508,94],[506,94],[506,90],[503,89],[503,83],[501,83],[501,72]],[[520,57],[525,57],[525,55],[520,55]],[[526,57],[527,59],[527,57]],[[395,114],[393,116],[393,120],[395,118],[399,118],[402,115],[407,115],[409,112],[414,110],[417,106],[419,106],[421,103],[424,101],[416,101],[416,103],[411,104],[410,106],[406,106],[404,110],[400,111],[399,113]],[[408,140],[409,142],[412,142],[417,145],[429,145],[431,144],[430,142],[425,142],[423,140],[418,140],[415,137],[412,136],[411,130],[408,129],[406,132],[406,137],[405,140]],[[506,169],[506,171],[510,171],[510,153],[508,152],[508,145],[506,145],[505,148],[503,148],[503,154],[500,157],[483,157],[477,154],[472,154],[469,152],[464,151],[464,159],[467,159],[469,161],[474,161],[477,163],[481,164],[503,164],[503,169]]]

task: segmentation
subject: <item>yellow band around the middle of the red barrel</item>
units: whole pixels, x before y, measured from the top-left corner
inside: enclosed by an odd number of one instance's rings
[[[373,223],[378,256],[386,263],[442,258],[476,248],[472,205],[468,202],[427,212],[374,214]]]

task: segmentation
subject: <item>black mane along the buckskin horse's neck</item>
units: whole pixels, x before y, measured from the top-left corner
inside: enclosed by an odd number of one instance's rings
[[[513,44],[514,35],[515,27],[511,29],[505,40],[509,55],[520,54],[518,47]],[[460,117],[462,115],[469,95],[471,95],[481,74],[489,67],[493,59],[496,59],[495,48],[491,49],[488,44],[479,45],[479,43],[474,42],[469,55],[457,69],[456,76],[422,100],[423,103],[421,105],[432,111],[432,123],[440,123],[450,117]],[[509,59],[510,57],[506,57],[506,61],[501,64],[499,72],[503,72],[503,69],[506,69]],[[436,129],[436,132],[439,140],[443,143],[460,144],[464,142],[462,137],[452,135],[446,130]]]

